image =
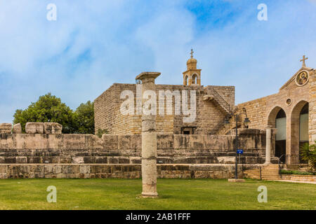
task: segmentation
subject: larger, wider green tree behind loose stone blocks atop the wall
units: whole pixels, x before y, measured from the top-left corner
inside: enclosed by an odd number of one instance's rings
[[[35,103],[31,103],[27,109],[16,110],[13,123],[20,123],[25,132],[27,122],[53,122],[62,125],[63,133],[76,132],[74,112],[69,106],[61,102],[61,99],[48,93],[39,97]]]

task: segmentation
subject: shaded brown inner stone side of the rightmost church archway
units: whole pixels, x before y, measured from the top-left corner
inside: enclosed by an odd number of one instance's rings
[[[301,124],[301,120],[302,120],[302,110],[305,108],[306,109],[306,105],[308,105],[308,102],[306,102],[305,100],[302,100],[300,102],[298,102],[298,104],[296,104],[291,112],[291,155],[289,155],[290,157],[290,163],[291,164],[298,164],[301,163],[300,161],[300,140],[305,140],[305,139],[300,139],[302,138],[302,132],[307,132],[308,134],[308,126],[303,127],[303,125]],[[305,112],[303,112],[305,113]],[[301,129],[302,128],[307,128],[307,130],[300,130],[300,126]],[[308,141],[308,139],[307,139]]]

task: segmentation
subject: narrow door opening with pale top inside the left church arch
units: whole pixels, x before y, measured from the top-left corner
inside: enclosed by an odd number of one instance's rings
[[[287,115],[283,109],[280,109],[275,118],[275,156],[285,162],[287,154]],[[283,155],[283,156],[282,156]]]

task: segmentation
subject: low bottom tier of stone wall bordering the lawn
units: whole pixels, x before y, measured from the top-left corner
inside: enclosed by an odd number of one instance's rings
[[[242,178],[242,166],[238,169]],[[229,179],[234,165],[157,165],[163,179]],[[141,165],[0,165],[0,179],[119,178],[139,179]]]

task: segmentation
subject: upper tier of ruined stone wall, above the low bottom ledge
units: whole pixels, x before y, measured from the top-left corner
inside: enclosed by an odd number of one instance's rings
[[[265,132],[240,132],[241,162],[263,163]],[[140,164],[140,153],[138,134],[0,134],[0,164]],[[230,164],[235,135],[158,134],[157,153],[159,164]]]

